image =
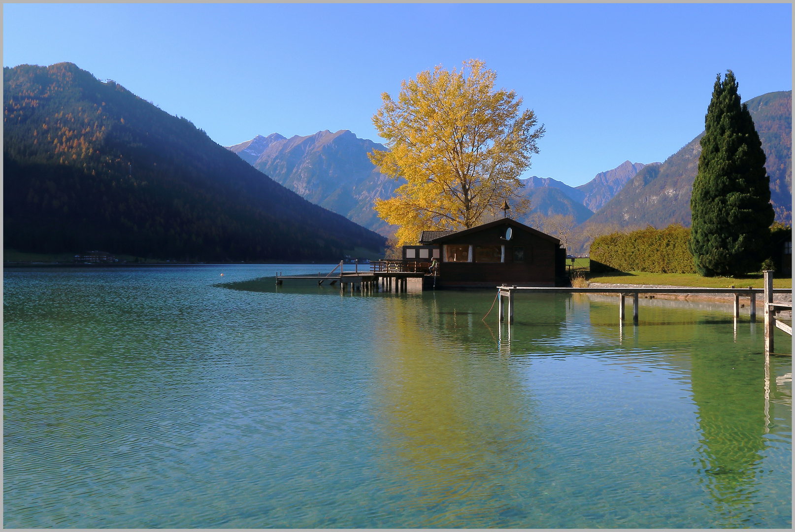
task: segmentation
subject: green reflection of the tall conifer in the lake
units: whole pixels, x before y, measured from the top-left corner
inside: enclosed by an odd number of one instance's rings
[[[727,353],[719,343],[695,339],[692,392],[698,406],[700,460],[696,467],[713,501],[716,526],[754,522],[756,474],[765,449],[765,360],[757,352]]]

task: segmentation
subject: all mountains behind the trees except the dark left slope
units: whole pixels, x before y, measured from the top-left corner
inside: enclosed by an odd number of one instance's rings
[[[776,219],[792,223],[792,91],[761,95],[747,105],[767,156]],[[666,227],[670,223],[688,227],[702,135],[663,163],[624,161],[578,187],[551,177],[524,179],[518,193],[530,200],[531,211],[518,219],[529,222],[539,214],[570,215],[581,233],[591,231],[589,227]],[[382,235],[394,230],[372,208],[375,198],[390,196],[400,184],[379,173],[366,157],[372,150],[386,150],[381,144],[357,138],[348,130],[325,130],[292,138],[258,135],[227,149],[313,203]]]

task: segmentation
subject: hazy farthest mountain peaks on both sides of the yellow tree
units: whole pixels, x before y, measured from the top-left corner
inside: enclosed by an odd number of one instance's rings
[[[373,150],[386,150],[382,144],[358,138],[349,130],[324,130],[291,138],[277,133],[257,135],[227,150],[312,203],[381,235],[394,233],[395,227],[378,218],[373,209],[376,198],[390,197],[402,182],[378,172],[367,157]],[[643,167],[626,161],[579,187],[549,177],[529,177],[522,180],[519,193],[530,200],[532,209],[519,219],[528,222],[537,213],[563,214],[583,223],[593,215],[592,209],[601,208]]]

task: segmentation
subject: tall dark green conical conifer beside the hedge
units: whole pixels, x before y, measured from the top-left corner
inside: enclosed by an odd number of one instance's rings
[[[775,214],[762,142],[731,70],[715,80],[704,122],[688,248],[705,277],[758,271]]]

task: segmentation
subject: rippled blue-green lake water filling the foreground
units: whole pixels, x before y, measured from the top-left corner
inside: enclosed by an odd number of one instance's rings
[[[792,526],[761,319],[219,285],[331,268],[6,269],[4,525]]]

